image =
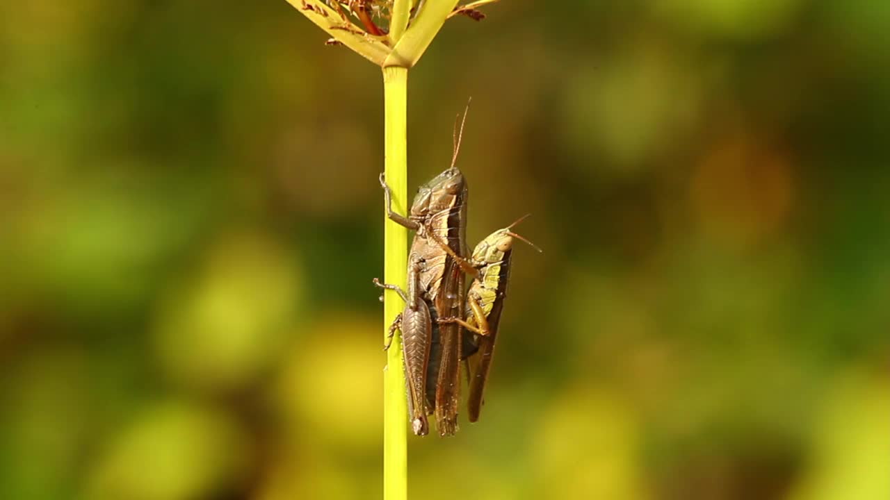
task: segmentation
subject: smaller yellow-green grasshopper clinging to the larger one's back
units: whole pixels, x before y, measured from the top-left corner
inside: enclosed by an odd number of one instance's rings
[[[470,372],[470,395],[467,399],[467,413],[470,422],[479,420],[482,406],[482,392],[491,367],[491,358],[494,354],[495,341],[498,337],[501,313],[504,310],[507,285],[510,280],[510,267],[513,256],[513,238],[520,239],[530,246],[541,251],[528,239],[516,234],[512,229],[522,222],[523,216],[506,228],[496,230],[483,239],[473,249],[469,259],[452,254],[444,241],[439,241],[442,250],[452,256],[461,270],[473,276],[473,283],[466,294],[465,319],[461,319],[460,313],[452,316],[440,316],[440,325],[457,323],[475,335],[474,341],[477,352],[465,352],[472,362]],[[466,349],[465,349],[466,351]]]

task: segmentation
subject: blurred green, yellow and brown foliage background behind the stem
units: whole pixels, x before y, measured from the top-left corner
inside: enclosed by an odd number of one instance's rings
[[[890,3],[532,2],[409,77],[518,216],[428,499],[890,497]],[[379,69],[282,0],[0,5],[0,498],[382,492]]]

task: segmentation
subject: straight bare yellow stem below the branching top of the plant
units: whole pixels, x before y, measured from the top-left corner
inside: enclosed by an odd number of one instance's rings
[[[391,66],[384,73],[384,154],[392,206],[405,214],[408,198],[408,69]],[[406,288],[408,230],[384,215],[384,281]],[[384,335],[404,308],[398,294],[384,292]],[[408,403],[405,396],[401,335],[392,339],[384,368],[384,500],[408,498]]]

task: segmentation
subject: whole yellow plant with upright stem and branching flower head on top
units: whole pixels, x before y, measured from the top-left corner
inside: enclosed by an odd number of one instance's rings
[[[352,2],[287,0],[336,41],[383,68],[384,170],[392,188],[393,209],[401,214],[408,198],[408,69],[417,64],[442,24],[454,14],[457,1],[392,0],[389,34],[372,36],[366,32],[368,22],[360,28],[345,15],[344,9]],[[495,1],[477,0],[465,7]],[[412,16],[416,6],[419,10]],[[407,268],[408,230],[384,217],[384,281],[406,288]],[[403,307],[398,294],[384,291],[384,335]],[[393,339],[384,368],[384,500],[408,498],[408,403],[401,342],[401,336]]]

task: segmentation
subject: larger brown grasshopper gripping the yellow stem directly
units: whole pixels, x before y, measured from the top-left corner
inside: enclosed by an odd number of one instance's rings
[[[466,114],[464,115],[464,119]],[[427,310],[432,307],[431,314],[439,318],[452,317],[460,314],[464,303],[465,278],[460,266],[455,262],[451,254],[462,256],[467,254],[466,249],[466,198],[467,188],[464,174],[454,165],[457,160],[457,152],[460,148],[461,133],[455,135],[454,155],[451,158],[451,166],[421,186],[417,196],[411,205],[409,216],[405,217],[392,211],[392,190],[386,184],[383,174],[380,183],[384,188],[384,202],[387,216],[396,223],[414,230],[415,236],[411,242],[409,251],[409,276],[413,273],[416,286],[415,297],[409,297],[414,307],[419,302],[424,302]],[[441,245],[448,247],[450,253],[443,250]],[[408,303],[409,300],[406,300]],[[406,307],[408,310],[408,307]],[[411,314],[415,314],[412,310]],[[422,313],[421,313],[422,314]],[[422,324],[421,321],[418,324]],[[405,352],[422,352],[423,348],[409,345],[414,342],[423,342],[430,345],[427,357],[406,356],[406,372],[409,374],[409,399],[418,394],[427,394],[424,401],[415,399],[409,401],[409,407],[415,408],[412,415],[412,429],[423,430],[423,424],[417,420],[418,407],[424,407],[427,413],[436,415],[436,423],[442,436],[453,435],[457,431],[457,409],[459,406],[460,391],[460,346],[462,325],[457,322],[449,322],[442,325],[433,324],[429,335],[424,332],[410,330],[417,328],[415,323],[410,325],[405,321],[403,313],[401,327]],[[395,326],[392,331],[398,328]],[[406,331],[408,330],[408,331]],[[425,371],[427,377],[435,376],[435,396],[429,397],[433,384],[427,379],[420,381],[415,379],[414,387],[411,387],[412,379],[417,373]],[[413,406],[412,406],[413,405]]]

